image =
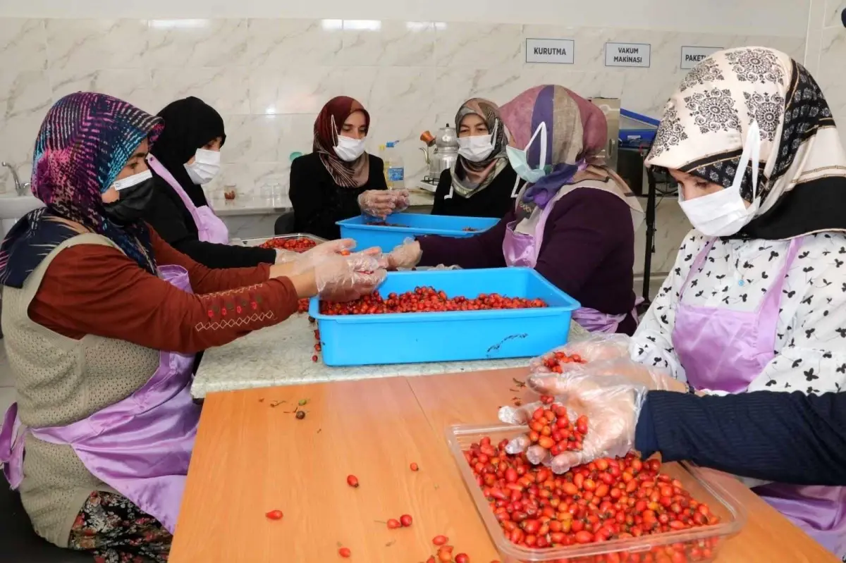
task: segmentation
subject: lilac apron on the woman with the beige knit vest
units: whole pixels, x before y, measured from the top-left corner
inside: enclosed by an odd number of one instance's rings
[[[181,266],[160,266],[159,271],[165,281],[191,291]],[[73,447],[96,478],[173,533],[201,407],[190,395],[194,356],[162,352],[160,358],[156,373],[124,400],[67,426],[25,432]],[[17,403],[9,407],[0,430],[0,462],[12,489],[23,479],[24,436],[17,412]]]

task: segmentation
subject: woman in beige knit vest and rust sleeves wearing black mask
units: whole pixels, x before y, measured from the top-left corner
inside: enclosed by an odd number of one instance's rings
[[[3,472],[41,537],[100,560],[168,558],[200,415],[194,354],[276,325],[298,298],[354,298],[384,276],[361,254],[211,270],[179,253],[140,221],[161,130],[111,96],[57,101],[34,151],[46,206],[0,246],[19,397]]]

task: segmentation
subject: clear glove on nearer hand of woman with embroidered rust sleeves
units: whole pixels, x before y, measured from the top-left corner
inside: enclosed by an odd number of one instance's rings
[[[364,253],[329,256],[314,266],[317,295],[327,301],[352,301],[376,291],[387,271]]]

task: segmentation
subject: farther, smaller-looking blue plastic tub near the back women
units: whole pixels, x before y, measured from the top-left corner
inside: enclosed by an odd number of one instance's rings
[[[373,217],[357,216],[338,221],[341,227],[341,238],[353,238],[357,249],[380,247],[384,252],[390,252],[406,238],[427,234],[437,234],[444,237],[472,237],[481,231],[493,227],[498,219],[487,217],[454,217],[446,215],[421,215],[419,213],[395,213],[388,216],[386,222],[407,227],[383,227],[368,225],[368,222],[379,221]],[[465,227],[477,231],[464,231]]]

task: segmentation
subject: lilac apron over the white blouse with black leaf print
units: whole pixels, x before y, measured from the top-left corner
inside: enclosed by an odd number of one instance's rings
[[[678,296],[673,347],[695,389],[742,393],[775,357],[779,300],[784,277],[801,238],[790,242],[783,270],[755,311],[684,303],[684,290],[704,265],[715,240],[696,256]],[[766,484],[752,489],[838,557],[846,552],[846,487]]]

